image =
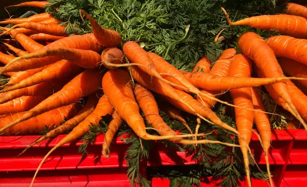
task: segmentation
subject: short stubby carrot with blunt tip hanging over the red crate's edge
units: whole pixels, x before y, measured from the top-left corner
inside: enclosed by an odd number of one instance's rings
[[[105,158],[108,158],[111,155],[109,145],[111,144],[112,139],[114,138],[116,132],[121,127],[122,121],[123,121],[122,118],[118,115],[116,111],[114,111],[112,114],[112,120],[109,122],[106,133],[104,134],[104,141],[102,145],[102,155]]]

